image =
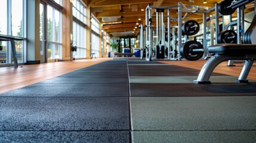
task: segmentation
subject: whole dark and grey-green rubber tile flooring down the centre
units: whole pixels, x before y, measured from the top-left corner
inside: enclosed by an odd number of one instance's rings
[[[0,142],[256,142],[256,81],[112,60],[0,95]]]

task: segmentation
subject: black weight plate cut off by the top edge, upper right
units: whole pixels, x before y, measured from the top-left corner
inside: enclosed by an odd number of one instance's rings
[[[232,0],[224,0],[222,2],[220,2],[220,4],[218,5],[218,12],[220,12],[223,15],[230,15],[235,13],[236,9],[232,9],[227,8],[232,4]]]

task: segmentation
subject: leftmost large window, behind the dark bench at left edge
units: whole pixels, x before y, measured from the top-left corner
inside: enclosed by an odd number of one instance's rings
[[[26,8],[25,0],[1,0],[0,1],[0,34],[8,36],[17,36],[20,38],[24,35],[24,18]],[[24,41],[15,41],[18,63],[24,62]],[[13,57],[11,54],[11,44],[7,41],[0,41],[2,51],[0,51],[0,64],[12,64]]]

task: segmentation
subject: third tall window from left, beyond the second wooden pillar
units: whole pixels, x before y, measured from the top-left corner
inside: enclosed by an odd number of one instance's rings
[[[74,58],[86,58],[86,7],[79,0],[73,3],[73,42],[77,49]]]

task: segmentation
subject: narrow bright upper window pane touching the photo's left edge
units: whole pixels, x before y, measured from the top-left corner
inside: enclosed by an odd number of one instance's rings
[[[7,1],[0,1],[0,34],[7,35]]]

